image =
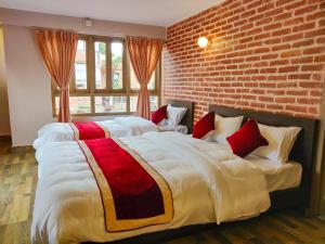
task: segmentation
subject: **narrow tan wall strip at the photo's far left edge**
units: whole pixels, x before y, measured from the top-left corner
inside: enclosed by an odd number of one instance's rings
[[[4,65],[3,29],[0,26],[0,136],[9,134],[10,120]]]

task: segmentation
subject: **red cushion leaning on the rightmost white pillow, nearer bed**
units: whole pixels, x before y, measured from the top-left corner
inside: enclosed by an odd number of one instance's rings
[[[249,119],[245,125],[232,136],[226,138],[233,153],[239,157],[245,157],[269,142],[262,137],[259,127],[253,119]]]

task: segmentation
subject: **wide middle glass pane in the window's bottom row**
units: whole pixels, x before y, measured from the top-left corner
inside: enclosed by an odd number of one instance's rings
[[[95,113],[127,112],[126,97],[95,97]]]

